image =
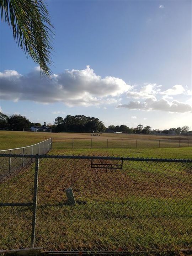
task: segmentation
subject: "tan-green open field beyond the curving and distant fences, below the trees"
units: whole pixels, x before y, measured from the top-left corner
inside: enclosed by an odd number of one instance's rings
[[[33,133],[0,131],[0,150],[33,145],[53,138],[55,150],[67,149],[142,149],[142,148],[178,148],[191,146],[188,136],[161,136],[146,134],[103,133],[90,136],[88,133]],[[86,151],[86,150],[85,150]],[[92,150],[91,150],[92,151]],[[135,150],[133,150],[134,152]],[[87,151],[86,151],[87,152]]]

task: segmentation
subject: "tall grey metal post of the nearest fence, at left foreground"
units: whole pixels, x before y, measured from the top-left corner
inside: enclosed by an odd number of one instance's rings
[[[35,174],[34,174],[34,190],[33,190],[33,217],[31,228],[31,247],[34,248],[35,242],[35,226],[36,226],[36,214],[37,214],[37,189],[38,189],[38,172],[39,172],[39,155],[36,155],[35,159]]]

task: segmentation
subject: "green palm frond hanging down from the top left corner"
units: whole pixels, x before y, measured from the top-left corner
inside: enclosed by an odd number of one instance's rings
[[[50,39],[53,26],[46,6],[41,0],[0,0],[1,20],[12,28],[13,36],[25,54],[30,55],[41,73],[50,76],[53,50]]]

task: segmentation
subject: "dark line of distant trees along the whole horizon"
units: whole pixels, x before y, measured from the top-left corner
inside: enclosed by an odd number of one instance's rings
[[[0,130],[23,130],[23,128],[30,128],[31,126],[42,126],[41,123],[32,123],[25,116],[20,114],[13,114],[7,116],[0,113]],[[54,124],[47,124],[47,127],[52,129],[53,132],[122,132],[122,133],[136,133],[136,134],[170,134],[172,131],[175,135],[191,135],[191,131],[188,126],[170,128],[165,130],[154,129],[151,130],[150,126],[143,127],[139,124],[137,127],[129,128],[122,124],[121,126],[110,125],[107,128],[98,118],[86,117],[84,115],[71,116],[68,115],[65,118],[55,118]]]

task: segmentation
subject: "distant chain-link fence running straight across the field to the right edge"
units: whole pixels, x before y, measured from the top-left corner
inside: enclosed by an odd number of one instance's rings
[[[191,146],[191,139],[54,138],[54,148],[176,148]]]

